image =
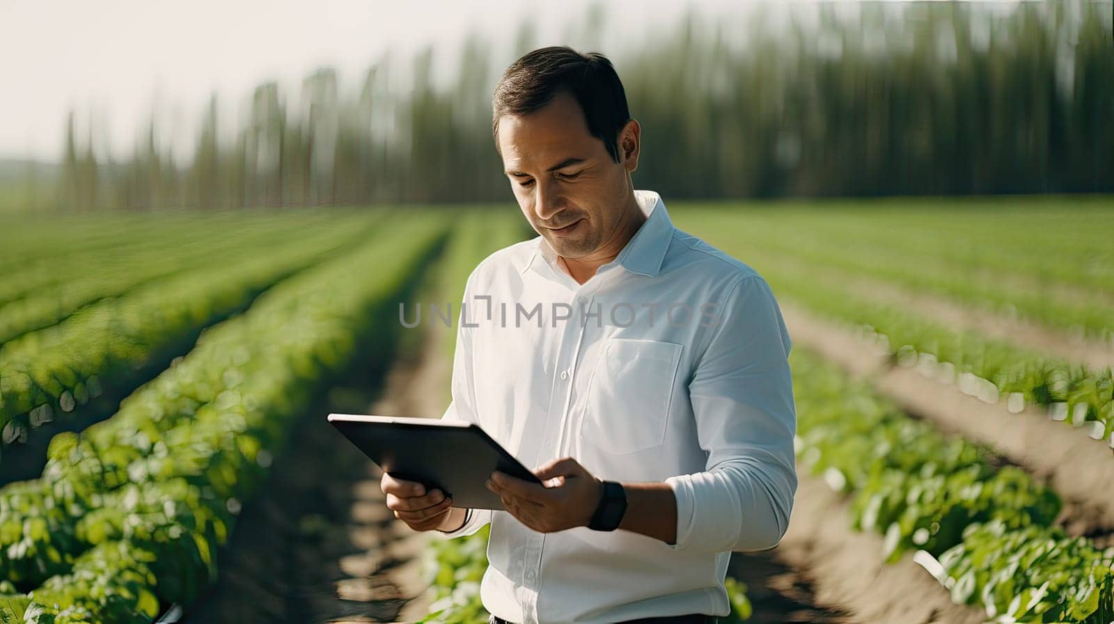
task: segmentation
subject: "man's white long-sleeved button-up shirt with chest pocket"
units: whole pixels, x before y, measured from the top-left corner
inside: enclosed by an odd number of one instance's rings
[[[491,523],[480,594],[510,622],[726,615],[731,551],[770,548],[789,525],[797,414],[773,293],[674,227],[656,192],[635,196],[647,220],[583,285],[540,236],[468,278],[443,418],[527,467],[570,456],[603,479],[665,482],[677,502],[672,545],[471,509],[446,535]]]

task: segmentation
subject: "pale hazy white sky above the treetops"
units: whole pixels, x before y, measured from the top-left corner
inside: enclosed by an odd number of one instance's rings
[[[726,11],[729,0],[700,0]],[[168,140],[187,146],[212,92],[222,119],[241,113],[258,83],[275,79],[296,93],[321,66],[336,68],[341,89],[354,85],[388,47],[409,58],[426,44],[453,50],[469,30],[494,46],[510,42],[530,17],[539,44],[563,43],[585,0],[0,0],[0,158],[57,160],[68,111],[79,132],[91,117],[114,157],[130,152],[152,112]],[[677,1],[609,0],[619,39],[675,18]],[[599,50],[608,53],[608,50]],[[496,53],[499,53],[498,48]],[[441,61],[452,62],[451,53]],[[497,56],[497,58],[499,58]],[[506,59],[506,65],[512,61]],[[448,75],[438,66],[438,71]]]

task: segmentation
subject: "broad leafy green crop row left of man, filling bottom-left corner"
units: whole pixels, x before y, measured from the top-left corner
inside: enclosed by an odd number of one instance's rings
[[[138,590],[188,603],[215,578],[217,547],[292,424],[361,345],[393,335],[381,311],[443,232],[421,215],[388,227],[207,330],[114,417],[56,436],[40,479],[0,489],[0,578],[10,601],[30,600],[28,622],[149,622]],[[104,563],[121,549],[146,567]]]

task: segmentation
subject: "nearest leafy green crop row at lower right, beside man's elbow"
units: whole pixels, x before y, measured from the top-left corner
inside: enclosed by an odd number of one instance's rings
[[[1054,492],[814,355],[795,349],[792,368],[799,462],[850,497],[852,526],[882,534],[888,562],[938,558],[957,603],[1004,622],[1108,624],[1114,548],[1057,527]]]

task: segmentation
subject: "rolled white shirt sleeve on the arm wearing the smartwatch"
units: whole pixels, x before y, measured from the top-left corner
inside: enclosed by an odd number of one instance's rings
[[[761,551],[789,527],[797,493],[791,341],[769,284],[737,281],[688,384],[704,472],[665,481],[677,502],[673,549]]]

